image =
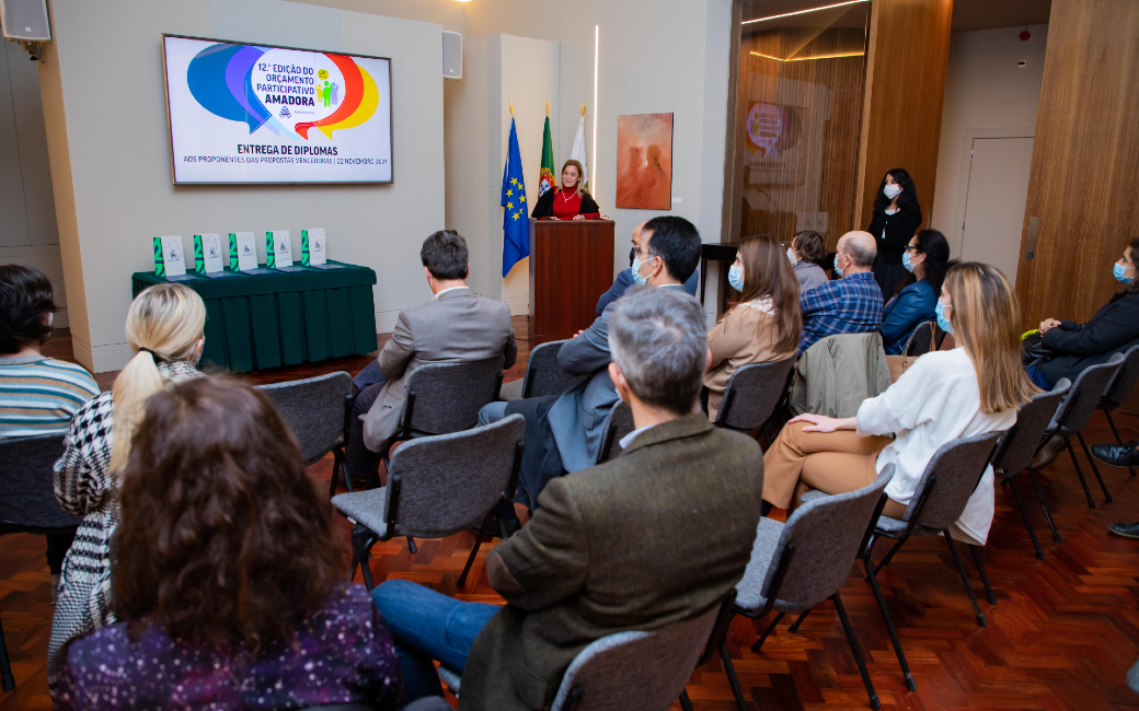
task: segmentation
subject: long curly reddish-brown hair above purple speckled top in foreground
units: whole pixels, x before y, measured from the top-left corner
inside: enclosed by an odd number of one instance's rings
[[[259,390],[194,378],[154,395],[123,472],[115,612],[131,634],[221,648],[292,639],[343,579],[331,512]]]

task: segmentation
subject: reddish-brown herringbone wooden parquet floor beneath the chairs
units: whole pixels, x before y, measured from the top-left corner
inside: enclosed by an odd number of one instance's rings
[[[516,328],[519,334],[525,332],[524,323]],[[508,379],[522,377],[525,362],[519,361]],[[367,357],[341,358],[261,372],[251,380],[289,380],[342,369],[355,372],[367,362]],[[1125,439],[1139,437],[1139,417],[1120,415],[1116,422]],[[1085,437],[1090,443],[1112,441],[1101,414],[1093,417]],[[1089,473],[1087,463],[1081,465]],[[331,458],[310,471],[316,479],[327,481]],[[1139,694],[1124,680],[1139,659],[1139,541],[1107,532],[1113,521],[1139,521],[1139,480],[1125,469],[1104,466],[1101,472],[1115,502],[1105,505],[1096,491],[1093,511],[1084,503],[1066,455],[1041,472],[1044,498],[1063,536],[1059,544],[1048,534],[1031,482],[1017,482],[1044,549],[1043,561],[1033,553],[1011,493],[998,487],[997,518],[982,552],[998,604],[985,601],[976,570],[966,556],[966,569],[989,621],[985,628],[974,620],[942,540],[909,541],[879,574],[917,680],[916,692],[903,684],[869,585],[852,569],[842,589],[843,602],[884,709],[1139,711]],[[336,526],[346,553],[349,523],[337,516]],[[442,540],[418,540],[418,553],[411,554],[402,539],[382,543],[372,551],[372,573],[377,581],[415,580],[460,600],[499,603],[483,571],[490,545],[481,549],[466,587],[456,587],[473,544],[474,535],[459,534]],[[888,544],[884,541],[877,551],[878,560]],[[42,537],[0,538],[0,615],[17,683],[15,691],[0,696],[0,709],[50,708],[43,660],[52,606],[44,551]],[[760,621],[762,626],[767,622]],[[789,622],[785,619],[780,623],[760,654],[751,651],[757,638],[755,622],[744,618],[732,622],[729,648],[748,709],[868,709],[858,668],[830,603],[812,612],[797,634],[787,631]],[[693,673],[688,694],[698,711],[735,709],[716,658]],[[679,709],[679,704],[673,708]]]

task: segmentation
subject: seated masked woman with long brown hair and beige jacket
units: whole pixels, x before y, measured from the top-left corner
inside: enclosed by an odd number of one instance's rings
[[[803,329],[798,283],[776,240],[765,234],[745,237],[728,270],[728,281],[743,299],[708,332],[712,361],[704,387],[713,422],[731,374],[748,363],[795,357]]]

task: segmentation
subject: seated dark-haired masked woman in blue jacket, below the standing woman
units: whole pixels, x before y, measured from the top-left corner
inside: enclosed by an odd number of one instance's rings
[[[917,281],[902,289],[882,309],[878,331],[886,355],[902,355],[918,324],[937,320],[935,309],[948,262],[949,241],[937,230],[921,230],[910,238],[902,253],[902,266]]]

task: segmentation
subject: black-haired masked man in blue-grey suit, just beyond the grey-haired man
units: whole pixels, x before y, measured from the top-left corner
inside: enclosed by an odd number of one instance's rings
[[[638,283],[682,291],[699,257],[700,235],[693,223],[683,217],[654,217],[641,230],[633,275]],[[480,424],[514,413],[526,419],[517,501],[530,509],[535,506],[547,481],[592,466],[597,458],[605,419],[617,402],[608,371],[609,312],[614,304],[606,306],[591,326],[558,350],[558,365],[574,375],[590,375],[589,380],[559,396],[491,403],[478,413]],[[502,507],[508,527],[517,524],[510,523],[513,512],[511,506]]]

